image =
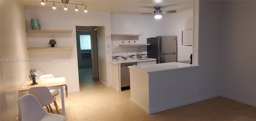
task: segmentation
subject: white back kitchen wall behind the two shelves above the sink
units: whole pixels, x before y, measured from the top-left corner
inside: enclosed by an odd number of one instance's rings
[[[128,15],[111,13],[111,34],[142,34],[136,44],[146,44],[147,38],[162,35],[162,20],[154,19],[154,16]],[[137,54],[138,48],[142,48],[142,54],[147,54],[147,47],[120,47],[119,44],[134,44],[134,40],[120,40],[112,37],[112,56]],[[129,39],[129,38],[128,38]],[[127,53],[128,52],[128,53]]]

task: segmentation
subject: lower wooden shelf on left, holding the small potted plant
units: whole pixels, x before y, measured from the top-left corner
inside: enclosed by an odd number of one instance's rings
[[[28,48],[30,52],[73,50],[73,46]]]

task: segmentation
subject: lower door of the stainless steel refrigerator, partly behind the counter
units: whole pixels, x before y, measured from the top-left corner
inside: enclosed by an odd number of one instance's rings
[[[159,54],[159,63],[177,62],[177,53]]]

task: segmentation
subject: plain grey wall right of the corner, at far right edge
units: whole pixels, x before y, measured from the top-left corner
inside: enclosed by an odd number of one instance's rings
[[[224,1],[219,8],[222,96],[256,106],[256,1]]]

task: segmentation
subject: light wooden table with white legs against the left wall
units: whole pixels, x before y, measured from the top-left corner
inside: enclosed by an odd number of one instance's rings
[[[65,116],[65,104],[64,104],[64,91],[63,86],[66,88],[66,97],[68,97],[68,88],[66,84],[65,77],[57,77],[52,79],[41,79],[36,80],[38,84],[36,85],[30,85],[32,81],[25,81],[24,84],[20,87],[19,91],[28,91],[32,87],[42,87],[46,86],[48,89],[60,89],[60,95],[61,95],[61,103],[62,103],[62,115]]]

